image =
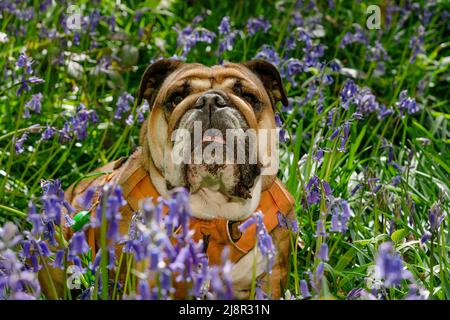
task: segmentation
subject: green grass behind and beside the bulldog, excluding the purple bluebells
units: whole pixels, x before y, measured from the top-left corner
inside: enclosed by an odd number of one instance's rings
[[[377,1],[374,1],[377,2]],[[36,12],[39,2],[32,2]],[[68,47],[64,41],[73,42],[66,34],[61,39],[41,37],[39,25],[56,28],[63,32],[58,23],[63,6],[50,7],[45,15],[35,14],[31,20],[21,21],[9,13],[3,13],[0,31],[8,34],[9,41],[0,43],[0,70],[14,70],[20,50],[26,48],[33,58],[35,74],[45,82],[32,86],[32,90],[21,96],[16,95],[17,82],[11,77],[0,82],[0,224],[12,220],[25,228],[24,213],[28,201],[40,196],[41,179],[59,178],[66,188],[91,170],[120,156],[129,155],[138,146],[139,125],[127,126],[125,121],[114,120],[117,97],[124,91],[135,94],[140,77],[150,61],[158,56],[181,55],[177,47],[175,26],[180,29],[191,23],[193,18],[204,13],[200,23],[213,32],[223,16],[230,16],[233,29],[243,30],[233,50],[225,52],[225,60],[240,62],[252,59],[264,44],[273,46],[280,56],[286,53],[284,40],[294,33],[289,29],[292,13],[300,12],[304,19],[314,12],[304,7],[295,9],[293,3],[286,3],[284,9],[276,9],[275,2],[245,1],[174,1],[169,8],[157,9],[156,1],[128,1],[120,8],[114,1],[102,2],[100,12],[104,16],[114,13],[117,16],[116,33],[110,32],[108,25],[101,21],[96,34],[80,33],[80,44]],[[318,264],[315,252],[322,237],[314,237],[316,223],[321,211],[327,211],[325,198],[318,205],[304,205],[305,188],[309,179],[317,175],[330,183],[333,196],[347,199],[353,215],[349,231],[342,234],[330,233],[326,240],[330,248],[330,260],[326,263],[326,285],[321,296],[342,299],[353,288],[368,287],[370,269],[374,265],[378,245],[392,240],[403,257],[406,268],[412,272],[418,283],[429,291],[430,298],[449,299],[449,181],[450,181],[450,133],[448,122],[449,81],[450,81],[450,37],[447,22],[441,19],[445,8],[440,2],[430,8],[432,16],[424,37],[425,53],[410,63],[411,48],[408,44],[417,35],[420,19],[417,12],[409,16],[394,13],[390,29],[384,22],[386,6],[382,8],[382,25],[379,31],[365,28],[367,5],[351,5],[350,1],[337,1],[330,8],[326,1],[317,1],[317,12],[325,35],[314,39],[326,46],[321,61],[333,59],[341,61],[342,66],[362,71],[365,76],[355,79],[360,87],[372,89],[379,103],[394,107],[400,91],[407,90],[422,106],[418,113],[378,119],[376,114],[365,115],[363,120],[352,121],[347,152],[338,150],[339,141],[328,138],[333,128],[326,125],[327,112],[336,107],[335,123],[341,125],[351,120],[355,107],[345,111],[339,105],[339,93],[348,76],[332,73],[334,83],[323,86],[324,111],[317,111],[318,97],[315,95],[306,104],[294,104],[293,108],[281,112],[284,129],[289,140],[281,143],[280,178],[285,182],[296,199],[296,213],[300,227],[301,247],[294,245],[289,289],[299,294],[298,280],[305,277],[308,269],[312,271]],[[423,8],[426,1],[419,1]],[[92,3],[78,1],[86,14],[92,11]],[[404,1],[401,1],[404,5]],[[139,24],[133,21],[137,9],[148,7]],[[271,29],[248,36],[245,24],[250,17],[263,16],[271,24]],[[400,23],[401,19],[405,19]],[[366,32],[370,44],[377,37],[387,51],[389,58],[384,62],[385,73],[374,73],[376,64],[367,59],[368,48],[363,44],[350,44],[340,48],[339,43],[347,31],[354,30],[353,23],[359,23]],[[11,36],[11,28],[26,27],[26,36]],[[139,28],[143,28],[142,39],[138,38]],[[20,32],[19,32],[20,33]],[[65,39],[65,40],[64,40]],[[94,41],[97,46],[92,47]],[[164,45],[161,46],[160,43]],[[133,51],[130,47],[137,49]],[[200,62],[211,66],[219,63],[216,56],[218,40],[211,45],[200,43],[188,54],[187,61]],[[289,57],[302,59],[305,53],[299,42],[296,49],[288,52]],[[135,52],[135,53],[131,53]],[[137,52],[137,53],[136,53]],[[55,61],[64,54],[66,61],[75,61],[83,71],[77,77],[74,70]],[[77,55],[85,55],[85,57]],[[117,56],[121,62],[112,62],[111,72],[92,72],[102,56]],[[128,61],[128,62],[127,62]],[[129,63],[129,64],[128,64]],[[292,88],[285,82],[288,96],[304,99],[308,83],[320,70],[308,70],[295,77],[298,87]],[[3,79],[3,76],[2,76]],[[421,81],[423,83],[421,83]],[[420,90],[421,85],[425,85]],[[41,92],[44,96],[41,114],[30,119],[22,117],[24,105],[32,93]],[[39,133],[30,133],[25,142],[26,150],[16,154],[13,137],[22,135],[26,128],[34,124],[46,123],[62,128],[65,119],[73,115],[76,107],[83,103],[88,109],[97,112],[100,122],[90,125],[88,137],[82,141],[59,143],[57,138],[40,141]],[[136,108],[136,106],[134,106]],[[424,139],[427,141],[424,142]],[[314,142],[325,149],[323,162],[318,165],[313,159],[316,152]],[[391,185],[398,171],[388,165],[388,149],[394,151],[393,161],[405,168],[401,182]],[[412,159],[408,160],[411,153]],[[371,178],[379,178],[381,189],[373,193],[368,185]],[[350,191],[357,184],[362,188],[354,195]],[[411,205],[414,202],[414,206]],[[440,203],[446,215],[440,229],[433,233],[432,239],[424,245],[419,243],[421,236],[429,230],[428,210]],[[413,224],[409,223],[409,220]],[[390,233],[390,223],[394,229]],[[326,219],[330,226],[330,217]],[[298,239],[292,239],[296,244]],[[370,287],[368,287],[370,289]],[[388,299],[403,298],[405,285],[386,292]]]

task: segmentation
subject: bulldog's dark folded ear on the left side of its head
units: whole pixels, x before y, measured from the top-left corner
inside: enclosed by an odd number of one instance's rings
[[[151,108],[164,80],[182,64],[181,61],[175,59],[161,59],[149,65],[142,75],[139,85],[138,105],[142,103],[143,99],[146,99]]]

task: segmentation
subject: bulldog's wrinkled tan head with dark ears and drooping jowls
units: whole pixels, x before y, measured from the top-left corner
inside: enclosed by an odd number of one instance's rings
[[[160,60],[142,77],[139,103],[142,99],[151,114],[141,144],[161,194],[183,186],[204,201],[212,192],[243,204],[259,199],[273,181],[278,168],[271,157],[278,139],[274,108],[278,101],[286,105],[287,98],[270,63],[210,68]]]

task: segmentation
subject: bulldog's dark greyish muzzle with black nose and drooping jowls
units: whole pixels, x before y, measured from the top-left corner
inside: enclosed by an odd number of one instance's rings
[[[261,173],[256,139],[248,135],[249,125],[241,112],[220,97],[211,98],[218,99],[219,106],[198,107],[197,103],[178,122],[178,129],[188,133],[184,147],[190,155],[182,164],[180,180],[192,194],[208,188],[230,198],[248,199]]]

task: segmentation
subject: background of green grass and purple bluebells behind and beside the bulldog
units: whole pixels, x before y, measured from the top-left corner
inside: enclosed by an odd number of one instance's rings
[[[366,28],[371,4],[381,9],[378,30]],[[0,224],[12,220],[27,227],[24,213],[28,201],[40,196],[41,179],[59,178],[66,188],[136,148],[138,106],[131,103],[132,125],[126,122],[129,112],[121,119],[114,114],[119,96],[135,95],[142,72],[158,57],[180,58],[186,53],[186,61],[211,66],[262,56],[282,71],[291,102],[279,110],[286,131],[279,176],[296,197],[301,238],[294,246],[290,292],[298,295],[300,279],[317,268],[316,253],[324,241],[330,258],[318,295],[342,299],[354,288],[370,289],[378,245],[390,240],[429,297],[450,297],[446,1],[77,1],[77,5],[84,22],[75,35],[64,28],[63,1],[0,4],[0,31],[7,36],[7,41],[0,41]],[[94,23],[97,14],[100,18]],[[230,17],[237,35],[230,50],[219,54],[226,38],[218,32],[224,16]],[[201,17],[198,23],[193,22],[196,17]],[[270,28],[251,35],[250,18],[262,18]],[[186,49],[181,30],[189,26],[217,35],[206,37],[206,42],[195,39]],[[347,36],[349,32],[353,36]],[[344,39],[353,43],[342,45]],[[21,50],[32,58],[34,75],[45,81],[17,94],[23,72],[16,65]],[[338,61],[339,71],[330,69],[332,61]],[[347,111],[341,95],[348,79],[373,94],[362,94],[369,102],[353,101]],[[415,99],[417,112],[399,107],[403,90]],[[41,112],[31,110],[24,118],[26,103],[37,93],[43,97]],[[85,139],[77,138],[74,128],[68,130],[72,136],[68,141],[61,142],[58,134],[41,139],[47,124],[62,130],[78,114],[80,103],[99,118],[86,124]],[[392,114],[382,116],[381,105]],[[343,137],[346,125],[348,140]],[[336,128],[339,136],[333,138]],[[24,132],[29,132],[24,151],[18,152],[15,144]],[[342,139],[345,150],[339,150]],[[319,150],[324,151],[321,160]],[[331,195],[325,194],[322,183],[317,190],[308,185],[315,176],[330,184]],[[318,193],[317,203],[309,201],[312,192]],[[329,231],[339,199],[352,210],[349,231],[344,233]],[[434,229],[430,210],[445,217]],[[326,237],[317,236],[320,220],[325,222]],[[421,243],[427,231],[431,240]],[[407,290],[404,283],[381,290],[381,296],[403,298]]]

